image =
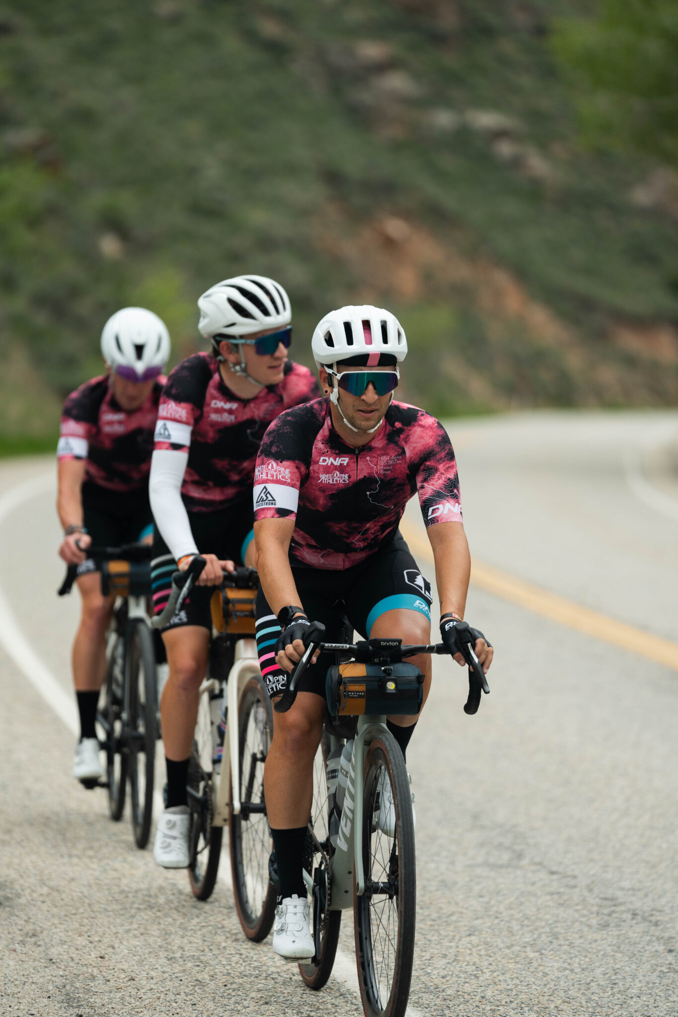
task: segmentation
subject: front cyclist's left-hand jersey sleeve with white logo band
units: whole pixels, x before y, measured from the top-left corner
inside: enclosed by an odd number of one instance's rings
[[[297,518],[299,488],[308,465],[297,438],[294,412],[285,412],[266,430],[254,469],[254,520]]]

